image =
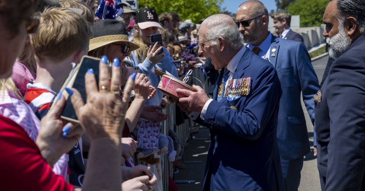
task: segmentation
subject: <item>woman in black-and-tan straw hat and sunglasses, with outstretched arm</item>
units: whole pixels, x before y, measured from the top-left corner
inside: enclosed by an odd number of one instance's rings
[[[126,66],[130,66],[127,62],[124,62],[124,58],[129,56],[131,51],[138,48],[139,45],[128,41],[127,31],[123,21],[105,19],[98,20],[93,25],[93,38],[90,40],[88,55],[99,58],[102,55],[106,55],[105,59],[109,62],[112,62],[113,58],[118,58],[120,63],[122,63],[123,82],[127,79]],[[123,86],[124,84],[120,85]],[[147,120],[162,121],[168,116],[157,111],[161,108],[145,106],[147,99],[151,99],[156,92],[156,89],[150,86],[149,78],[145,74],[137,73],[134,92],[135,98],[126,113],[126,127],[123,130],[124,138],[129,137],[130,132],[134,130],[140,117]],[[130,148],[124,148],[123,156],[128,159],[135,152],[136,148],[133,147],[132,150]]]

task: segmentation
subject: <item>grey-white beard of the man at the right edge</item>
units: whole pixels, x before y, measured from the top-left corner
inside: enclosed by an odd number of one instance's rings
[[[332,38],[328,37],[326,42],[329,44],[328,55],[333,59],[340,57],[351,45],[351,39],[346,36],[343,25],[340,25],[338,27],[338,33]]]

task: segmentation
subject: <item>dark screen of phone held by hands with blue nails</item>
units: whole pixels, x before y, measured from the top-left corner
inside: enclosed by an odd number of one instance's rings
[[[95,74],[96,84],[98,85],[99,84],[99,62],[100,62],[100,60],[91,59],[89,57],[84,57],[80,63],[81,64],[80,69],[78,70],[76,79],[75,79],[72,87],[77,89],[81,93],[84,103],[86,103],[85,73],[88,71],[89,68],[93,69],[94,74]],[[67,99],[65,108],[62,111],[62,116],[77,120],[77,116],[76,116],[75,110],[72,106],[71,99]]]

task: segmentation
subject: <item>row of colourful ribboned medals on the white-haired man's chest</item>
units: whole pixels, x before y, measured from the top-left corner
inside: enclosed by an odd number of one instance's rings
[[[232,96],[249,95],[250,88],[251,88],[251,77],[228,80],[226,97],[228,97],[228,95]]]

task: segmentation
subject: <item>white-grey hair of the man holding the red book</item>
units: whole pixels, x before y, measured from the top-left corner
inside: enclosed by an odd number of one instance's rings
[[[211,41],[211,45],[218,45],[218,37],[222,37],[235,50],[239,50],[244,46],[243,35],[239,32],[237,24],[232,17],[228,15],[212,15],[201,23],[202,26],[207,28],[205,38],[207,40],[214,39]]]

